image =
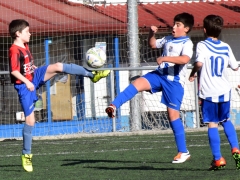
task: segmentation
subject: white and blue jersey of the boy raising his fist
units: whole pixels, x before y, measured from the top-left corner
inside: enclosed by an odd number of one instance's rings
[[[156,40],[156,47],[163,48],[162,56],[181,56],[187,55],[192,58],[193,43],[188,36],[175,38],[173,36],[166,36],[162,39]],[[179,82],[184,86],[187,64],[174,64],[170,62],[161,63],[157,70],[160,74],[167,77],[170,81]]]

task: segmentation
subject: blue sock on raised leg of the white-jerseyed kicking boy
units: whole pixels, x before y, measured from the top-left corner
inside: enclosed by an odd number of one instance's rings
[[[132,99],[137,93],[138,93],[138,90],[135,88],[135,86],[130,84],[123,92],[121,92],[114,99],[112,104],[116,106],[116,108],[119,108],[123,103]]]

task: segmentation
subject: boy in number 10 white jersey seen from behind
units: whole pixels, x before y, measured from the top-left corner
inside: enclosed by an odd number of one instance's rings
[[[202,99],[203,122],[208,124],[208,138],[213,161],[209,170],[225,167],[226,161],[220,151],[220,123],[231,145],[232,156],[237,169],[240,169],[239,144],[236,130],[230,121],[231,85],[227,77],[227,67],[238,70],[238,63],[231,47],[218,40],[223,26],[223,19],[217,15],[208,15],[203,20],[205,41],[197,44],[196,62],[189,80],[194,81],[200,71],[199,97]]]

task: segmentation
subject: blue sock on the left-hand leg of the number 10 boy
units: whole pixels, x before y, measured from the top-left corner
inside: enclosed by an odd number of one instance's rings
[[[218,128],[208,128],[208,140],[213,158],[219,160],[222,157],[220,150],[220,136]]]

